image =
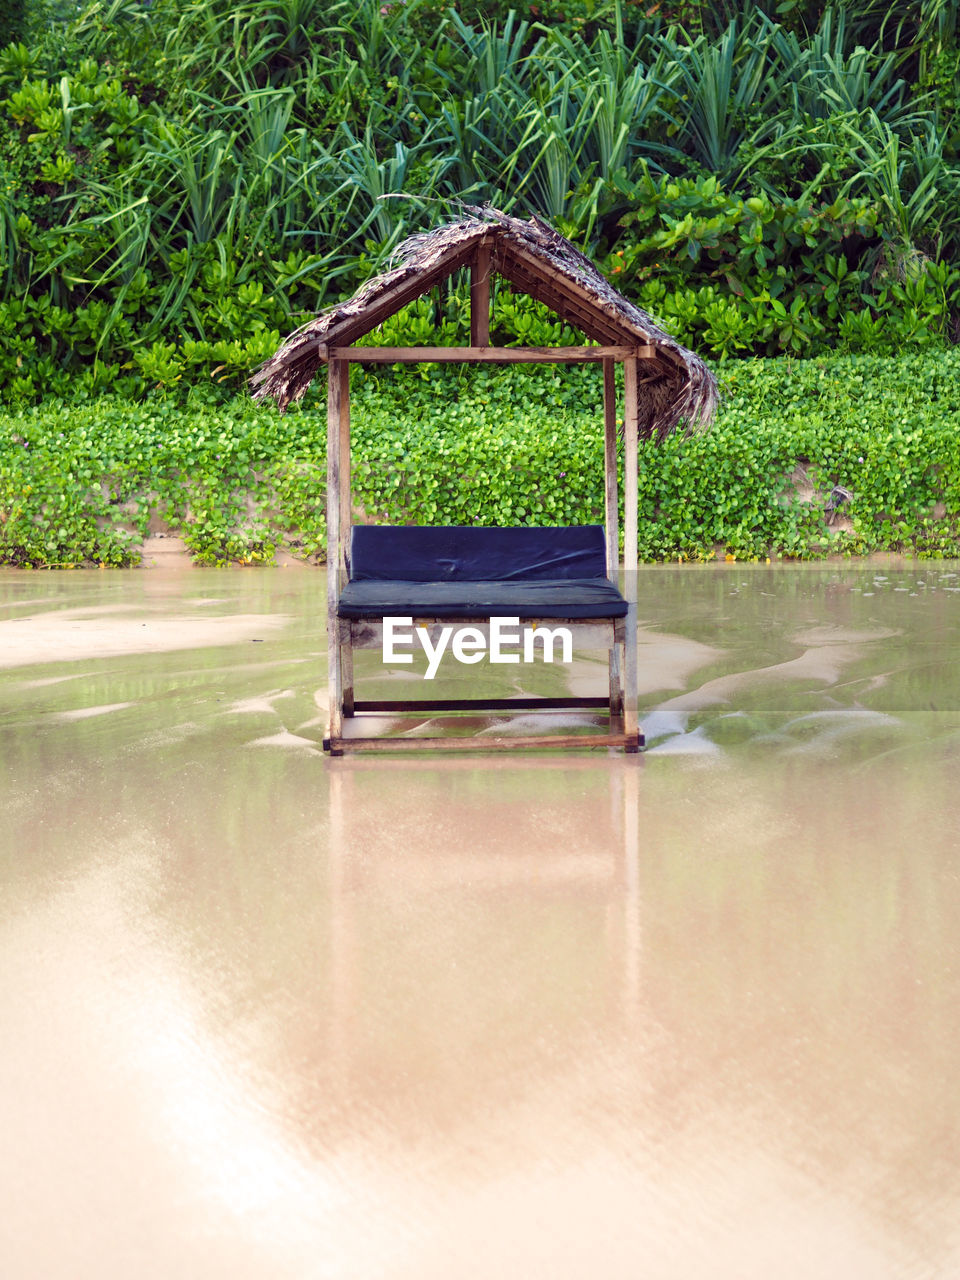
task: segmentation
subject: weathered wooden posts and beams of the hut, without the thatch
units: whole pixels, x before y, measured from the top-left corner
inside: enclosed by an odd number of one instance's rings
[[[461,265],[461,264],[457,264]],[[654,347],[645,344],[605,343],[591,347],[490,347],[489,306],[490,271],[498,264],[490,244],[481,241],[471,262],[471,320],[468,347],[353,347],[320,348],[328,365],[326,392],[326,611],[329,654],[329,726],[324,750],[332,755],[344,751],[375,750],[508,750],[518,748],[589,748],[617,746],[634,753],[643,745],[637,723],[637,384],[639,362],[654,356]],[[434,283],[434,282],[431,282]],[[424,292],[421,289],[421,292]],[[404,297],[404,301],[410,301]],[[396,308],[394,308],[396,310]],[[357,334],[358,337],[358,334]],[[340,580],[349,573],[351,462],[349,462],[349,366],[356,362],[412,364],[428,361],[504,362],[504,364],[586,364],[603,365],[603,428],[604,428],[604,531],[607,573],[617,580],[620,571],[620,481],[617,475],[617,394],[616,365],[623,365],[623,570],[627,600],[625,618],[595,620],[588,623],[550,618],[550,626],[566,626],[575,646],[605,648],[608,660],[608,692],[603,698],[517,698],[517,699],[426,699],[410,701],[364,700],[355,696],[353,650],[380,644],[379,623],[371,620],[348,620],[338,616]],[[457,623],[456,618],[417,618],[429,627]],[[529,620],[525,620],[525,625]],[[532,620],[530,620],[532,621]],[[545,621],[545,620],[544,620]],[[477,626],[477,620],[470,620]],[[343,721],[364,713],[422,714],[467,710],[605,709],[608,731],[593,733],[557,733],[550,736],[484,736],[477,737],[362,737],[344,735]]]

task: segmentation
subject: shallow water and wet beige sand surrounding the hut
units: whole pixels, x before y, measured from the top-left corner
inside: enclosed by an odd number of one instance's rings
[[[643,756],[329,762],[321,575],[0,575],[0,1274],[960,1274],[960,567],[640,600]]]

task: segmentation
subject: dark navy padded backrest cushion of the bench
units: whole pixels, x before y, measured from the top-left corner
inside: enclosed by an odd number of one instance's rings
[[[351,553],[352,581],[538,582],[607,576],[602,525],[355,525]]]

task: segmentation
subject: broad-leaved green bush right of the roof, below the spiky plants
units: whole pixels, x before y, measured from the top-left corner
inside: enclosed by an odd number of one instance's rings
[[[884,239],[879,202],[742,198],[713,178],[649,174],[630,196],[602,264],[698,349],[890,353],[952,335],[960,269]]]

